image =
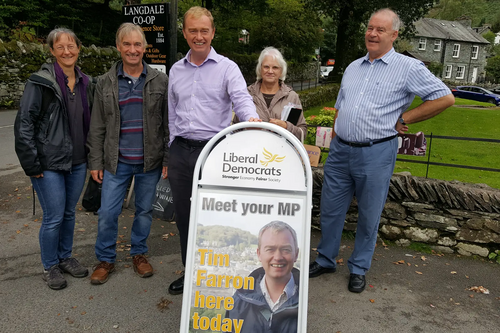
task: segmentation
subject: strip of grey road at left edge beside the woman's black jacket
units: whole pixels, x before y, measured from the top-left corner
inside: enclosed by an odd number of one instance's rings
[[[15,110],[0,111],[0,176],[18,172],[21,169],[14,150]]]

